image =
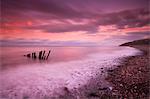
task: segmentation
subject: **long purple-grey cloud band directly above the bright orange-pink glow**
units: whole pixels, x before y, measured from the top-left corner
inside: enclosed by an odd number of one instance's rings
[[[100,18],[99,18],[100,17]],[[147,9],[126,10],[116,13],[100,15],[98,18],[88,19],[86,24],[71,24],[62,21],[63,24],[47,24],[24,27],[27,29],[38,29],[50,33],[63,33],[71,31],[87,31],[88,33],[96,33],[99,26],[116,25],[118,29],[136,28],[149,25],[149,11]],[[82,19],[81,19],[82,22]]]

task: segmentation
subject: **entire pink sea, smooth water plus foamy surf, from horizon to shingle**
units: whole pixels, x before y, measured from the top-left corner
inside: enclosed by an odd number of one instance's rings
[[[23,55],[41,50],[48,60],[33,60]],[[140,53],[130,47],[1,47],[0,98],[48,99],[84,86],[100,68],[119,64],[118,58]]]

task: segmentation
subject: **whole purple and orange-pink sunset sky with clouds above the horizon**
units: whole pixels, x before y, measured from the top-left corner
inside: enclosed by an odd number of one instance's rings
[[[147,38],[149,0],[1,0],[3,45],[118,45]]]

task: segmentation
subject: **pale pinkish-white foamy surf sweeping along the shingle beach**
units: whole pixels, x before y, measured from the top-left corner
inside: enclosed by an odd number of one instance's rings
[[[96,74],[100,74],[100,68],[117,65],[117,58],[137,53],[138,50],[126,47],[112,53],[90,54],[82,60],[34,64],[1,71],[0,98],[44,99],[64,95],[65,87],[69,90],[78,89]]]

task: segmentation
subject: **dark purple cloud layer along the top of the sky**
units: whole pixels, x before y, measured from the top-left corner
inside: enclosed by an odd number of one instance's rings
[[[103,11],[147,8],[148,0],[1,0],[1,6],[4,15],[35,11],[68,18],[89,17]]]

